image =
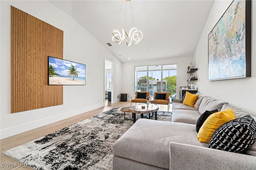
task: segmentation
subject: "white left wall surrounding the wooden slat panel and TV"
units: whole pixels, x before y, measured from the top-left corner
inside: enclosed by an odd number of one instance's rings
[[[85,86],[64,86],[63,105],[10,113],[10,5],[64,31],[64,56],[86,64]],[[0,1],[0,138],[104,106],[104,58],[114,61],[114,100],[121,93],[122,63],[74,19],[48,1]],[[97,66],[97,67],[95,67]],[[118,87],[119,86],[119,87]]]

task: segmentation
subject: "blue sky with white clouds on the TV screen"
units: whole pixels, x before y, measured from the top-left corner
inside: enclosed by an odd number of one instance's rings
[[[78,77],[85,77],[85,67],[86,65],[75,63],[72,61],[67,61],[63,59],[58,59],[54,57],[49,57],[49,65],[52,65],[56,69],[56,73],[59,75],[68,76],[68,69],[71,65],[73,65],[76,71],[79,71]]]

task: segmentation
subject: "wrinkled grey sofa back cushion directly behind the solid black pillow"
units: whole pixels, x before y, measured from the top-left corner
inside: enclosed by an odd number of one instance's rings
[[[223,101],[217,101],[212,97],[204,96],[198,111],[200,112],[200,114],[203,114],[205,111],[212,111],[215,109],[218,109],[218,111],[220,111],[224,104],[228,103]]]

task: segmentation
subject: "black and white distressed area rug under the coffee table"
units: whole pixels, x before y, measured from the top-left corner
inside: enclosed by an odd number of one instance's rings
[[[172,113],[158,111],[158,120],[171,121]],[[132,125],[114,108],[4,154],[36,170],[112,170],[112,146]]]

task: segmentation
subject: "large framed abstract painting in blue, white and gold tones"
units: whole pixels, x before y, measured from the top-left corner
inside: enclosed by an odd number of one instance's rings
[[[208,35],[208,80],[251,77],[251,0],[234,0]]]

